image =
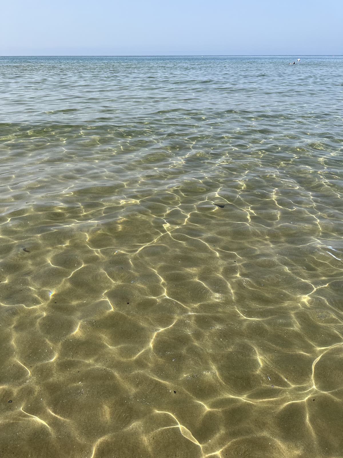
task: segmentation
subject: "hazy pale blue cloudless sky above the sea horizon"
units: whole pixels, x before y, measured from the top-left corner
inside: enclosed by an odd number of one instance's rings
[[[343,0],[11,0],[0,55],[342,55]]]

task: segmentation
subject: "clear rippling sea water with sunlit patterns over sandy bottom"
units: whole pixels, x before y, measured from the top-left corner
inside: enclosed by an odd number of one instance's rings
[[[343,60],[289,60],[0,59],[1,457],[342,456]]]

